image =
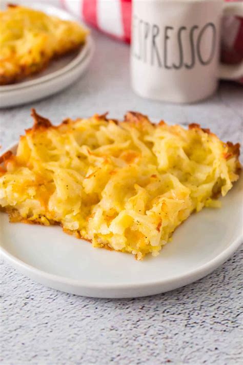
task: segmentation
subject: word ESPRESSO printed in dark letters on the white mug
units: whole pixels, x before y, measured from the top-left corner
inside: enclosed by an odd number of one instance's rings
[[[173,52],[175,60],[168,60],[171,40],[176,37],[177,51]],[[190,54],[185,54],[184,44],[189,42]],[[208,43],[207,47],[202,47]],[[215,53],[216,28],[213,23],[203,27],[181,26],[177,29],[165,26],[160,29],[156,24],[149,24],[136,15],[133,17],[133,56],[138,60],[167,69],[191,69],[196,62],[209,65]],[[206,48],[206,51],[205,51]]]

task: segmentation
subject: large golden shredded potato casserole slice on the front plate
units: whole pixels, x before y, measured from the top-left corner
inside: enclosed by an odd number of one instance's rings
[[[192,212],[238,179],[239,144],[128,112],[52,126],[33,110],[16,156],[0,162],[0,206],[13,222],[60,224],[94,247],[158,255]]]

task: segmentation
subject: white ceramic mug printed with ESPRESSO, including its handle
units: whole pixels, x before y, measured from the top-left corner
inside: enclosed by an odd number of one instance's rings
[[[222,15],[243,16],[243,3],[133,0],[133,90],[145,98],[192,103],[213,94],[219,78],[242,76],[242,63],[219,63]]]

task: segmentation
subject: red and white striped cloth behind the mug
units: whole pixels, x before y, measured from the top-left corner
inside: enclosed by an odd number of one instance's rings
[[[132,0],[60,0],[60,2],[66,10],[91,26],[118,40],[130,43]],[[233,16],[224,18],[221,41],[222,62],[234,64],[243,60],[243,18]],[[240,82],[243,83],[243,75]]]

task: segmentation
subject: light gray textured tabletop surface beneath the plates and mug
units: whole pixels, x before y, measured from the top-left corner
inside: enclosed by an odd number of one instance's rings
[[[0,111],[7,147],[31,126],[30,107],[54,123],[65,117],[137,110],[171,122],[197,122],[239,141],[243,88],[222,83],[195,105],[139,99],[129,86],[129,48],[95,33],[87,74],[48,100]],[[105,300],[56,292],[2,261],[1,359],[4,365],[215,364],[242,361],[242,249],[206,278],[153,297]],[[241,331],[241,333],[240,333]]]

